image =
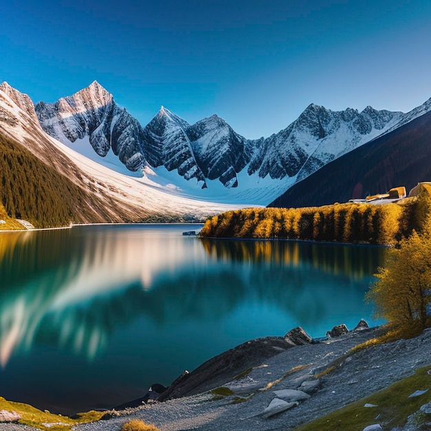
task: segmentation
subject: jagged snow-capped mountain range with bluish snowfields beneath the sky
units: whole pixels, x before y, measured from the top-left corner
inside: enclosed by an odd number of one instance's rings
[[[45,132],[106,166],[185,196],[253,204],[268,204],[331,160],[430,109],[431,99],[407,114],[311,104],[281,132],[248,140],[216,115],[189,125],[164,107],[141,127],[96,81],[53,105],[36,105]]]

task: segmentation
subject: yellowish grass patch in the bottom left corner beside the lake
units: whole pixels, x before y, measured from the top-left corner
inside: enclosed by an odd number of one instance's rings
[[[3,397],[0,397],[0,410],[8,410],[12,412],[14,410],[18,414],[21,414],[19,423],[23,425],[30,425],[39,430],[51,430],[51,431],[67,431],[77,423],[94,422],[101,419],[103,412],[90,412],[79,413],[76,415],[76,419],[70,419],[67,416],[61,416],[60,414],[52,414],[50,412],[42,412],[28,404],[15,403],[14,401],[6,401]],[[56,425],[45,426],[44,423],[50,424],[55,423]]]

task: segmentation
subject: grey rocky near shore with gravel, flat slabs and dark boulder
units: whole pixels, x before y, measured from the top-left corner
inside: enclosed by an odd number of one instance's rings
[[[120,430],[121,425],[131,419],[154,423],[162,431],[294,429],[387,388],[412,375],[417,368],[431,364],[431,330],[413,339],[401,339],[346,355],[348,350],[380,335],[381,331],[381,328],[359,326],[343,334],[344,328],[337,327],[333,337],[316,342],[302,331],[293,330],[286,334],[285,344],[281,337],[250,341],[211,359],[189,377],[180,379],[165,393],[167,401],[109,412],[107,420],[75,425],[72,430]],[[246,354],[247,345],[255,346],[258,352],[254,357],[251,355],[252,359]],[[258,364],[243,368],[244,372],[235,379],[229,378],[227,376],[236,371],[233,362],[232,370],[227,370],[229,361],[235,357],[241,367],[249,365],[250,361]],[[209,390],[213,388],[219,389]],[[418,389],[421,388],[412,388],[412,392]],[[169,399],[181,392],[196,395]],[[375,423],[379,423],[378,420]],[[385,424],[381,425],[386,429]],[[5,431],[31,429],[12,424],[2,426]],[[405,428],[406,431],[414,429],[411,424]]]

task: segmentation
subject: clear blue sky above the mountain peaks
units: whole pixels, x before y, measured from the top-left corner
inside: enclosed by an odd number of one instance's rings
[[[144,126],[164,105],[246,138],[310,104],[431,97],[429,0],[2,0],[0,81],[54,102],[98,81]]]

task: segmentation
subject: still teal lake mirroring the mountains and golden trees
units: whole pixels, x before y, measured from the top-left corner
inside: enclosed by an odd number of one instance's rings
[[[386,249],[183,236],[196,224],[0,234],[0,396],[112,408],[249,339],[369,324]]]

